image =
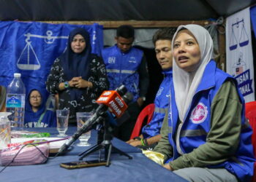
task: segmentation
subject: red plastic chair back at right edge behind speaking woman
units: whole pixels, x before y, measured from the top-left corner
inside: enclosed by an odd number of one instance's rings
[[[249,124],[252,127],[252,146],[253,153],[256,157],[256,101],[245,104],[245,116],[249,120]],[[256,181],[256,163],[252,181]]]

